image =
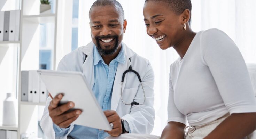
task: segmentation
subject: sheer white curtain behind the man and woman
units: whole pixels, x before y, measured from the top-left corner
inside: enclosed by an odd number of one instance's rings
[[[88,13],[95,0],[79,1],[78,46],[91,41]],[[167,124],[169,66],[178,58],[173,48],[161,50],[146,34],[143,21],[144,0],[117,0],[124,8],[127,29],[123,42],[147,58],[155,73],[155,126],[152,134],[161,135]],[[237,44],[247,63],[256,63],[255,0],[192,0],[192,29],[195,32],[218,28]],[[161,7],[160,7],[161,8]]]

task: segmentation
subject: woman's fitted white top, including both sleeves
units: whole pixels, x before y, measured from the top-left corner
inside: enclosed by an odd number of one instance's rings
[[[226,113],[256,112],[245,61],[222,31],[198,32],[170,66],[168,122],[201,126]]]

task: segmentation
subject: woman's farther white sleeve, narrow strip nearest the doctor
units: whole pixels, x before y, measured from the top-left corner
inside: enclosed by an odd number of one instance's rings
[[[171,67],[171,66],[170,66]],[[171,68],[170,68],[171,69]],[[172,77],[171,70],[169,74],[169,98],[168,98],[168,121],[167,122],[180,122],[186,125],[186,116],[182,114],[174,104]]]

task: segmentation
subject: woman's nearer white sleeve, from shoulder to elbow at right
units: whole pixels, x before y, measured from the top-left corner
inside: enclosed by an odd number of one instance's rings
[[[224,32],[211,29],[200,39],[201,58],[210,69],[230,114],[256,112],[256,99],[245,61]]]

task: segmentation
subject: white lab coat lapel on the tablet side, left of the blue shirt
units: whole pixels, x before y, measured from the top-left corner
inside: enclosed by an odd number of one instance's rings
[[[90,85],[91,89],[95,83],[94,79],[94,65],[93,65],[93,47],[94,44],[90,42],[82,49],[82,52],[87,55],[87,58],[83,64],[83,74],[85,75],[85,79]]]

